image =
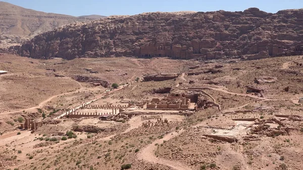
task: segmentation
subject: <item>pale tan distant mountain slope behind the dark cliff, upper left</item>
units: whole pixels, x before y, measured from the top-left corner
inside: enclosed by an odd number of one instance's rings
[[[45,31],[73,23],[91,21],[102,16],[73,17],[68,15],[44,13],[25,9],[9,3],[0,2],[0,47],[18,44],[24,38],[32,38]],[[15,39],[15,41],[11,41]]]

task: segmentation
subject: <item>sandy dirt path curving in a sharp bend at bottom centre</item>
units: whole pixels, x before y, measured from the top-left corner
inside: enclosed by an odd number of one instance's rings
[[[158,140],[154,141],[153,143],[149,144],[147,147],[145,147],[143,150],[141,150],[139,152],[138,158],[151,162],[151,163],[164,164],[164,165],[167,165],[174,169],[191,170],[191,168],[186,166],[184,163],[163,159],[163,158],[157,157],[155,155],[155,150],[157,149],[157,146],[155,145],[156,143],[163,143],[164,140],[168,141],[168,140],[180,135],[182,132],[184,132],[183,129],[180,130],[178,133],[177,132],[169,133],[168,135],[164,136],[163,139],[158,139]]]

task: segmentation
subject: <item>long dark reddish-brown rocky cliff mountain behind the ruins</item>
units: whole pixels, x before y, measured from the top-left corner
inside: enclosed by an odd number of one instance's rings
[[[303,9],[143,13],[71,23],[11,47],[30,58],[168,56],[260,59],[301,54]]]

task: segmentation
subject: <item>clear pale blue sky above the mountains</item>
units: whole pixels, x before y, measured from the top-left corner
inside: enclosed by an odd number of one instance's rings
[[[244,11],[257,7],[276,13],[303,8],[303,0],[0,0],[24,8],[72,16],[135,15],[143,12]]]

